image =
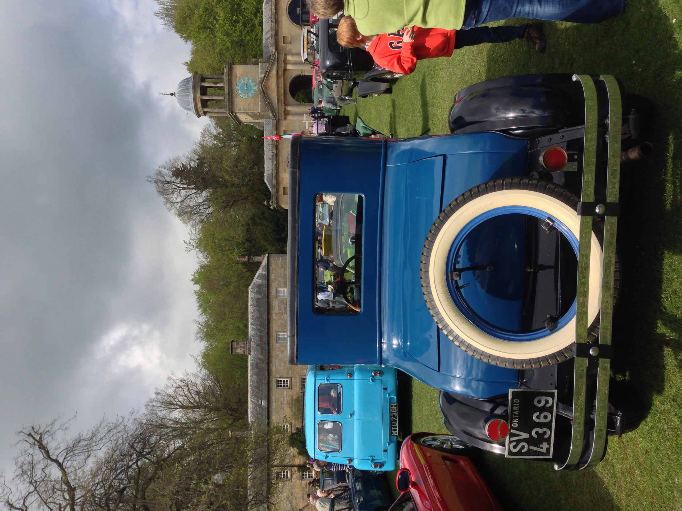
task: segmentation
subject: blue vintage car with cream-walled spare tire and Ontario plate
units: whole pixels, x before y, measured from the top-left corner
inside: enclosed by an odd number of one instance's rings
[[[612,76],[531,75],[460,91],[449,136],[293,138],[290,363],[398,368],[474,446],[599,463],[625,424],[608,388],[636,121]]]

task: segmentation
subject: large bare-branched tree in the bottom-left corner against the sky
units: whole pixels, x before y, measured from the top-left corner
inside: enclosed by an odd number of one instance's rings
[[[277,467],[295,456],[281,427],[248,424],[207,371],[172,376],[144,414],[18,432],[10,511],[248,511],[276,503]]]

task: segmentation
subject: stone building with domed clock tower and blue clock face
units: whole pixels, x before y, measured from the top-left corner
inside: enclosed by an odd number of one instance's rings
[[[312,103],[294,99],[312,89],[312,69],[301,59],[301,33],[310,15],[304,0],[263,2],[263,58],[226,64],[223,74],[182,80],[174,95],[197,117],[230,117],[263,129],[265,136],[301,133]],[[288,208],[288,140],[265,140],[265,183],[271,207]]]

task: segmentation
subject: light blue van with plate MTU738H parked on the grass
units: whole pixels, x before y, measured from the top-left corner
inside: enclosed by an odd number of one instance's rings
[[[360,470],[393,470],[398,456],[396,369],[311,365],[306,377],[306,446],[314,459]]]

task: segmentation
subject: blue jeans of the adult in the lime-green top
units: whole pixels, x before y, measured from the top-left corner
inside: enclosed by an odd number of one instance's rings
[[[466,0],[462,29],[511,18],[599,23],[624,8],[625,0]]]

